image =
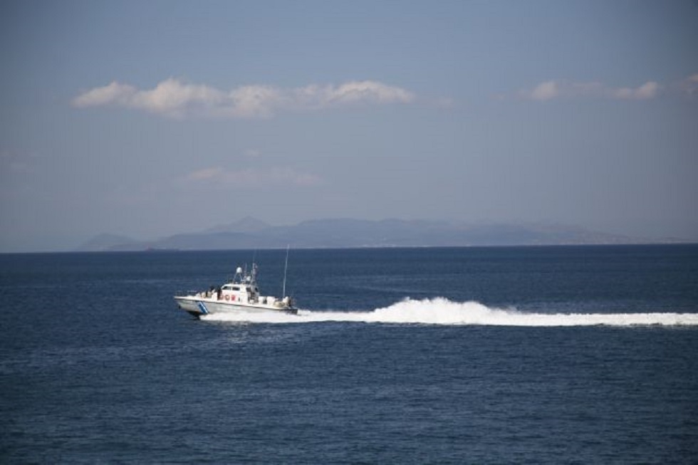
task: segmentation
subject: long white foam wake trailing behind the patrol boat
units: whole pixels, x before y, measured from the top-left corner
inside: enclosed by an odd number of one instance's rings
[[[239,323],[318,323],[347,321],[424,325],[493,326],[631,326],[698,325],[698,313],[526,313],[515,308],[489,308],[477,302],[452,302],[446,298],[410,298],[373,311],[334,312],[299,310],[287,313],[223,313],[202,317],[208,321]]]

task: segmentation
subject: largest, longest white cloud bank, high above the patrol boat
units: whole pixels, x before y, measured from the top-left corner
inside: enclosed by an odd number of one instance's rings
[[[78,108],[120,106],[170,117],[254,118],[271,117],[278,110],[322,110],[360,103],[380,105],[414,100],[415,95],[408,90],[373,80],[293,89],[246,85],[224,91],[170,78],[150,90],[138,90],[115,81],[80,93],[73,99],[73,105]]]

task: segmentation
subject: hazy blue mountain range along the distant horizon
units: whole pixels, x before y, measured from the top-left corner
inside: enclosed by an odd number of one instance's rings
[[[316,219],[294,226],[271,226],[246,217],[201,232],[152,241],[100,234],[78,251],[225,250],[647,244],[642,239],[562,224],[464,224],[450,221]],[[665,241],[669,242],[669,241]]]

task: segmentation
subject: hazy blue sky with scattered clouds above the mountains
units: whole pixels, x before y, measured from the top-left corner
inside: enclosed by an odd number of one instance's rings
[[[694,1],[6,1],[0,251],[255,216],[698,241]]]

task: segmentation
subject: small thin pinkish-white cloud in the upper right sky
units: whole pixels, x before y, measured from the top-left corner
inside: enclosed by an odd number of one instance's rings
[[[647,81],[637,88],[612,88],[598,82],[576,83],[548,80],[519,95],[526,100],[546,101],[555,98],[611,98],[618,100],[648,100],[659,93],[660,85]]]

